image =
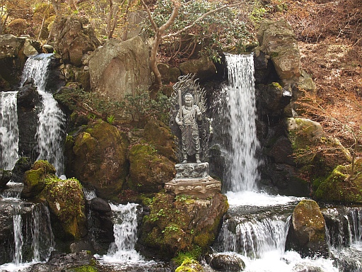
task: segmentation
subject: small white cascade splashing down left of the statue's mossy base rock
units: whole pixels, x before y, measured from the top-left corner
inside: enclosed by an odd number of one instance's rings
[[[113,231],[115,232],[115,242],[110,244],[107,255],[100,261],[106,263],[140,263],[143,258],[134,249],[137,242],[137,207],[135,203],[127,205],[114,205],[112,208]]]

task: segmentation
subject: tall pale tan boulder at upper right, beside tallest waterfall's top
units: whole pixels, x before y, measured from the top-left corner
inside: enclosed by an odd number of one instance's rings
[[[282,80],[298,79],[300,54],[293,28],[285,20],[264,20],[257,32],[258,51],[269,55]]]

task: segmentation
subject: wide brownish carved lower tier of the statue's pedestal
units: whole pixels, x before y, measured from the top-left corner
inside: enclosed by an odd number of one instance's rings
[[[176,195],[197,196],[208,198],[221,192],[221,182],[208,176],[203,179],[173,179],[165,183],[165,191],[171,191]]]

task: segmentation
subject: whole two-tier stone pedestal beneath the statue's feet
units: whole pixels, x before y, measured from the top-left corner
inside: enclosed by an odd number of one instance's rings
[[[199,198],[221,192],[221,182],[209,176],[209,163],[176,164],[175,168],[176,177],[165,183],[165,191]]]

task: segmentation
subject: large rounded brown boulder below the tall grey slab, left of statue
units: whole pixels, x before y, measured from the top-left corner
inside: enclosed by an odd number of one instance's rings
[[[121,191],[129,171],[127,135],[98,121],[66,141],[66,176],[75,176],[110,200]]]

